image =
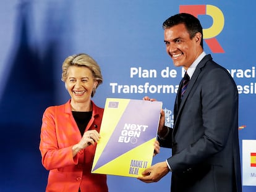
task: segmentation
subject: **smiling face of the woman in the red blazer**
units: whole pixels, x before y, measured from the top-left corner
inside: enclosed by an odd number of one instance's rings
[[[97,81],[93,79],[92,71],[87,67],[70,66],[65,85],[72,102],[87,102],[90,101]]]

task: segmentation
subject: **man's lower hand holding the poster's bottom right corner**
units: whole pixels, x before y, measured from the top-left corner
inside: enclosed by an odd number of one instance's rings
[[[142,177],[138,177],[139,180],[145,183],[158,182],[169,172],[168,165],[166,162],[159,162],[152,167],[142,172]]]

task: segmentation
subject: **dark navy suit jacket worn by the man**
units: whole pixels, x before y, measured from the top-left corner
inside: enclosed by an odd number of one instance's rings
[[[241,190],[238,93],[228,71],[203,57],[174,106],[174,127],[161,146],[172,148],[172,192]]]

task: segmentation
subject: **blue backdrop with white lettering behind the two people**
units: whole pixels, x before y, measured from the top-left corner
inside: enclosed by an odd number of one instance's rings
[[[186,11],[198,15],[205,52],[226,67],[239,88],[239,136],[255,141],[255,2],[244,1],[69,1],[0,2],[0,191],[45,191],[48,172],[38,149],[46,107],[63,104],[69,94],[61,81],[64,59],[80,52],[101,66],[104,82],[93,98],[163,101],[172,111],[182,69],[166,54],[161,25]],[[245,37],[246,36],[246,37]],[[167,87],[167,88],[166,88]],[[256,152],[255,148],[249,152]],[[171,149],[161,148],[153,164]],[[245,161],[245,159],[246,161]],[[256,190],[256,167],[241,164],[243,191]],[[244,170],[243,170],[244,171]],[[171,173],[146,184],[136,178],[108,176],[109,191],[169,191]],[[248,184],[249,183],[249,184]]]

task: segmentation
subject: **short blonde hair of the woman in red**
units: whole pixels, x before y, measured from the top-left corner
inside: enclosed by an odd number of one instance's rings
[[[61,80],[64,82],[66,82],[67,80],[67,70],[69,69],[70,66],[87,67],[92,71],[93,79],[98,82],[96,87],[93,88],[92,95],[91,95],[93,97],[95,94],[96,88],[98,88],[98,86],[103,82],[100,66],[92,57],[90,57],[88,54],[85,54],[85,53],[69,56],[65,59],[65,61],[62,64]]]

